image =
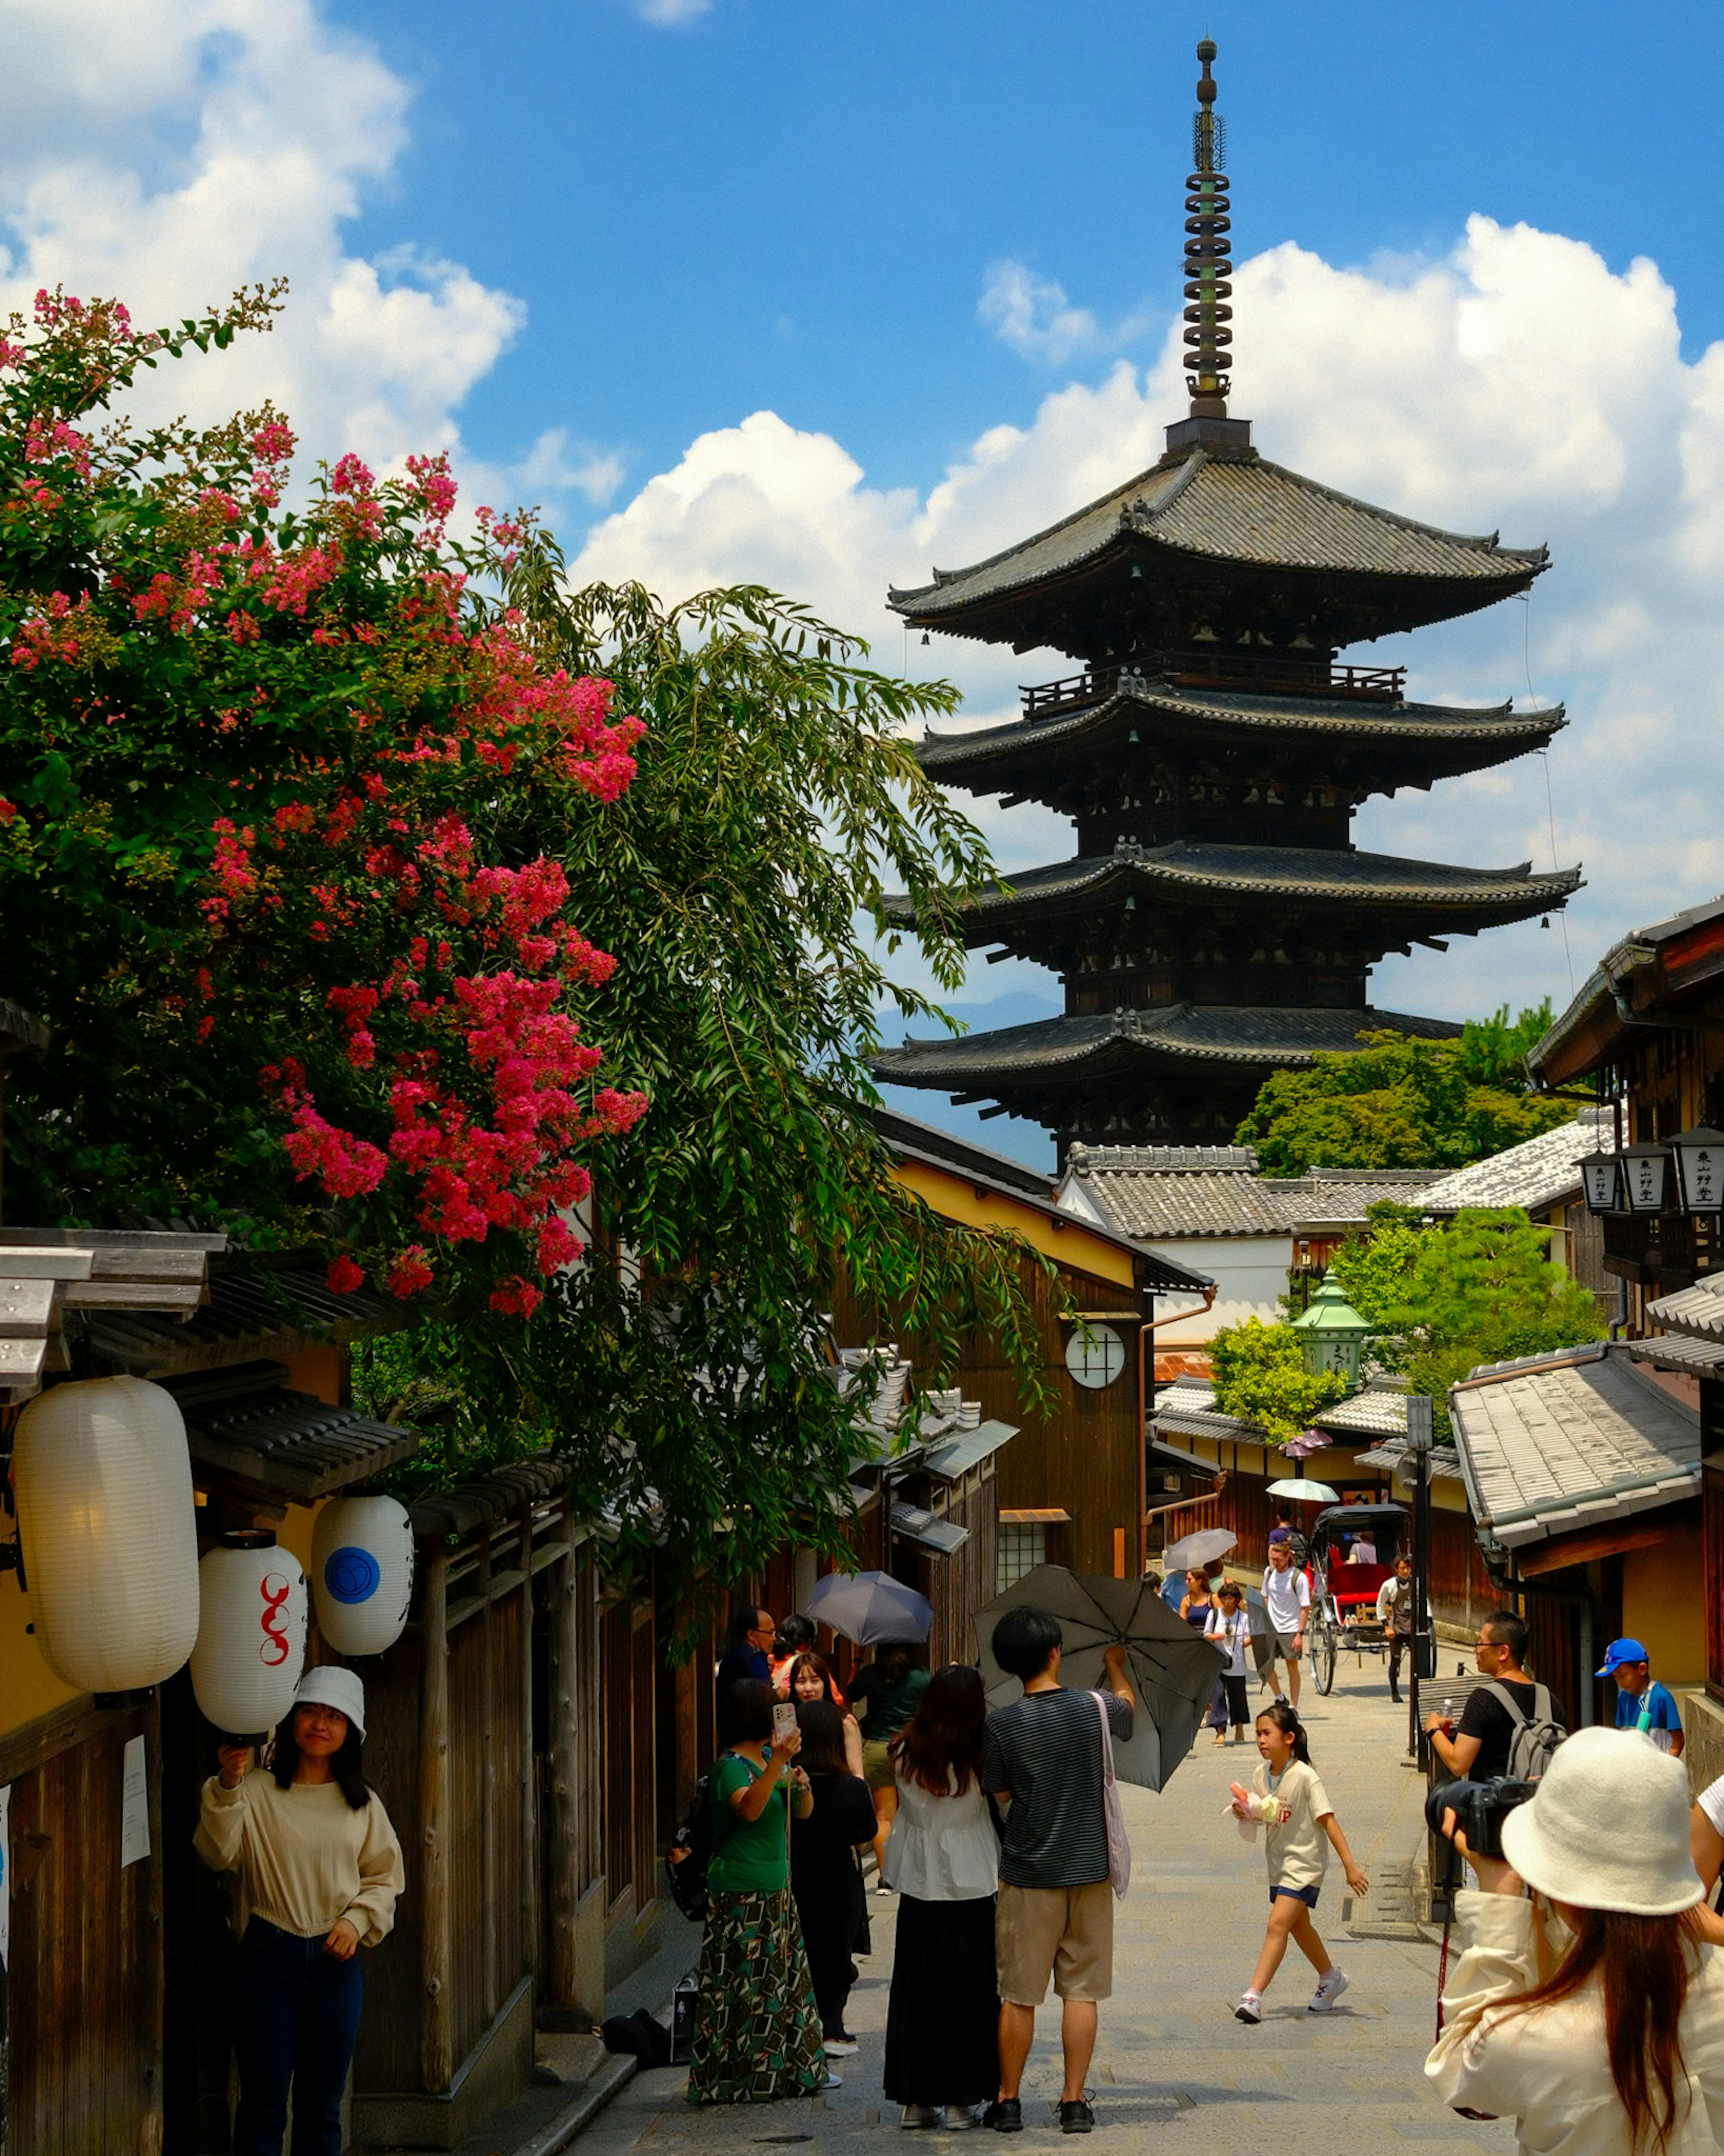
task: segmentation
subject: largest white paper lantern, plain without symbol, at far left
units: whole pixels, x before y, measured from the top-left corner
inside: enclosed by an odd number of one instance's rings
[[[172,1393],[54,1384],[17,1419],[17,1533],[47,1667],[80,1692],[162,1684],[198,1636],[198,1511]]]

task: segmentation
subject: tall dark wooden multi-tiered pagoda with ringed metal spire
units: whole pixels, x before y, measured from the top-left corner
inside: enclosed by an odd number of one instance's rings
[[[1049,530],[933,584],[892,591],[907,623],[1043,645],[1082,673],[1024,692],[1024,716],[929,733],[944,783],[1045,802],[1078,858],[985,890],[972,949],[1065,981],[1065,1018],[905,1041],[877,1076],[987,1100],[1073,1141],[1226,1141],[1274,1069],[1360,1033],[1446,1020],[1375,1011],[1390,951],[1565,903],[1577,869],[1532,875],[1362,854],[1353,811],[1543,748],[1562,709],[1407,703],[1403,671],[1338,664],[1349,645],[1524,593],[1545,548],[1468,539],[1373,509],[1252,448],[1231,418],[1228,181],[1198,45],[1185,198],[1190,418],[1162,461]]]

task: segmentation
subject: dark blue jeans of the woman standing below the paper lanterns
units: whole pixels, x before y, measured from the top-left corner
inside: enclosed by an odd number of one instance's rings
[[[237,2156],[280,2156],[293,2085],[293,2156],[340,2156],[340,2091],[360,2035],[360,1958],[252,1917],[239,1940],[233,2050]]]

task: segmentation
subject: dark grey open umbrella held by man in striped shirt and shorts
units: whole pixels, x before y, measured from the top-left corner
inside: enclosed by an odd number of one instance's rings
[[[989,1705],[1004,1708],[1021,1695],[993,1660],[993,1626],[1013,1608],[1056,1617],[1065,1634],[1060,1682],[1093,1688],[1103,1682],[1103,1647],[1125,1647],[1125,1667],[1138,1695],[1131,1736],[1114,1740],[1114,1772],[1144,1789],[1166,1787],[1192,1749],[1192,1738],[1215,1690],[1222,1658],[1215,1647],[1166,1606],[1146,1580],[1097,1580],[1065,1565],[1037,1565],[1015,1587],[976,1611],[976,1645]]]

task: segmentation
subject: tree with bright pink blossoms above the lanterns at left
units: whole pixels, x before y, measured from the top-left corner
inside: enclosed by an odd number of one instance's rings
[[[618,802],[642,727],[519,632],[530,524],[457,543],[446,459],[295,492],[272,410],[110,416],[274,304],[140,334],[39,293],[0,334],[0,996],[54,1028],[6,1207],[224,1220],[526,1319],[646,1097],[590,1031],[616,959],[500,834]]]

